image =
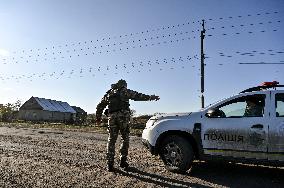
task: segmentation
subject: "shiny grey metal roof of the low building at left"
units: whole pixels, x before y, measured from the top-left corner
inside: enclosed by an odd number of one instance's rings
[[[34,97],[43,110],[55,112],[69,112],[76,113],[76,111],[67,103],[51,99]]]

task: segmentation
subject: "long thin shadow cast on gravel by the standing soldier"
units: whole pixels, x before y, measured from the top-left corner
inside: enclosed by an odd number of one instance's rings
[[[196,183],[179,181],[176,179],[163,177],[157,174],[144,172],[135,167],[128,167],[126,170],[116,169],[115,172],[123,176],[135,178],[147,183],[153,183],[155,185],[159,185],[162,187],[207,187]]]

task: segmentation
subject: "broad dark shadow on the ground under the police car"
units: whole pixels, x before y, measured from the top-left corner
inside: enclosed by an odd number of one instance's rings
[[[187,175],[225,187],[284,187],[284,168],[277,167],[194,162]]]

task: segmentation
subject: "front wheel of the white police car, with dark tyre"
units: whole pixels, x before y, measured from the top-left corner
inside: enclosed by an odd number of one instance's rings
[[[166,169],[177,173],[185,173],[191,167],[194,156],[191,144],[185,138],[175,135],[162,141],[159,154]]]

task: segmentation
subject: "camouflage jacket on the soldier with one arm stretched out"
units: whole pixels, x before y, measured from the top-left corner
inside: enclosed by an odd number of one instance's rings
[[[110,89],[106,92],[101,102],[97,105],[96,118],[100,119],[103,110],[108,106],[109,113],[129,110],[129,99],[134,101],[148,101],[151,100],[151,95],[138,93],[127,88]]]

